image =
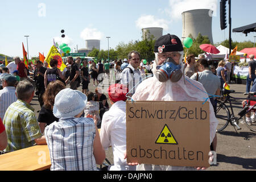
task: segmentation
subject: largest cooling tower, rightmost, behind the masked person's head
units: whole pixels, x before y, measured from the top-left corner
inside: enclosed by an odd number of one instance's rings
[[[210,43],[212,39],[212,16],[209,12],[212,10],[199,9],[189,10],[182,13],[183,32],[182,36],[187,38],[189,34],[196,38],[200,32],[203,36],[208,36]]]

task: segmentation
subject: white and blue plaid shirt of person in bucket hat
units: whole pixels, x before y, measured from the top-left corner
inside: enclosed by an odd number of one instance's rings
[[[95,171],[93,141],[96,128],[92,118],[60,118],[45,131],[52,171]]]

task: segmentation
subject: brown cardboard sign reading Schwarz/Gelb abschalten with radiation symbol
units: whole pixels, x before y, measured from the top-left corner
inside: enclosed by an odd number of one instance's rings
[[[127,162],[209,167],[209,102],[126,101]]]

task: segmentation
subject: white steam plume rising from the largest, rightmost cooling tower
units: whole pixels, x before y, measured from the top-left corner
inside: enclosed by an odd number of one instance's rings
[[[217,0],[169,0],[169,6],[165,11],[172,20],[181,19],[181,13],[195,9],[213,10],[216,16]]]

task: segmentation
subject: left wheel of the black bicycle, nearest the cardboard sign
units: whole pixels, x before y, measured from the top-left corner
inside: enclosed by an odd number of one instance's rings
[[[222,104],[220,101],[218,101],[217,111],[215,116],[218,119],[218,126],[216,131],[219,132],[224,130],[226,126],[228,126],[229,124],[230,114],[229,114],[228,107],[226,107],[225,104]]]

